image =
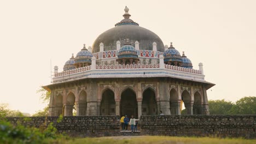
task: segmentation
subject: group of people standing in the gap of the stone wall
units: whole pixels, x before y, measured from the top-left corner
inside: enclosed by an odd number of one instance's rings
[[[131,132],[137,131],[139,119],[133,118],[133,115],[131,116],[131,119],[127,117],[127,115],[123,115],[120,119],[120,123],[122,125],[122,130],[125,131],[128,128],[128,124],[131,125]]]

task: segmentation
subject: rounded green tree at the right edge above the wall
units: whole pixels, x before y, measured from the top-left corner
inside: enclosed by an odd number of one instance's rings
[[[230,110],[232,115],[256,114],[256,97],[243,97]]]

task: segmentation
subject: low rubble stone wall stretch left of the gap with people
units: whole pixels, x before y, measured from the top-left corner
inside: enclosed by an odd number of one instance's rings
[[[59,133],[65,132],[74,137],[96,137],[96,136],[117,136],[120,135],[119,116],[70,116],[63,117],[57,123],[59,117],[9,117],[8,120],[16,124],[34,127],[45,127],[53,122]]]

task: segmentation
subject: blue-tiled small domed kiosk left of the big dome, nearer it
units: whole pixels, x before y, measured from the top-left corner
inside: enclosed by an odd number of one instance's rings
[[[77,56],[75,57],[75,63],[78,62],[91,62],[91,57],[93,57],[92,53],[86,49],[85,44],[81,51],[77,53]]]

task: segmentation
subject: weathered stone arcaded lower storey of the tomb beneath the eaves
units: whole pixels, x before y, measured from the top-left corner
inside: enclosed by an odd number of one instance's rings
[[[171,77],[82,79],[49,85],[49,116],[181,115],[183,101],[188,115],[208,115],[207,83]]]

